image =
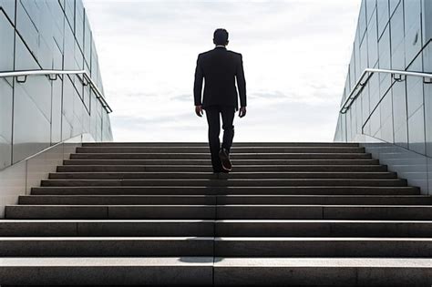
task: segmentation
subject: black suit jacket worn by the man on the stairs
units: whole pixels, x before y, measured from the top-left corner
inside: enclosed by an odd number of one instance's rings
[[[202,81],[205,78],[204,97],[201,101]],[[238,109],[239,86],[240,105],[246,107],[246,81],[244,79],[242,54],[216,47],[198,56],[193,93],[195,106],[203,108],[221,105]]]

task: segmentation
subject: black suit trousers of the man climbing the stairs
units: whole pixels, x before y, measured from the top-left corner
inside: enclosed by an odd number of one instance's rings
[[[231,150],[234,138],[234,126],[232,125],[235,115],[235,107],[231,106],[210,106],[205,108],[207,122],[209,123],[209,144],[211,151],[211,165],[213,170],[222,170],[219,151],[221,150],[221,118],[223,128],[222,149]]]

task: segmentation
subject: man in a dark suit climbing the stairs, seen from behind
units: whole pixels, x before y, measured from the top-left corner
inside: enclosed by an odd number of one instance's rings
[[[228,32],[217,29],[213,35],[214,49],[198,56],[195,71],[195,112],[202,117],[203,110],[209,124],[211,165],[214,173],[228,173],[232,169],[230,151],[234,138],[235,112],[239,109],[237,85],[240,94],[240,118],[246,116],[246,81],[244,79],[242,54],[227,50]],[[202,81],[205,78],[204,95]],[[202,99],[202,101],[201,101]],[[223,141],[221,133],[221,118]]]

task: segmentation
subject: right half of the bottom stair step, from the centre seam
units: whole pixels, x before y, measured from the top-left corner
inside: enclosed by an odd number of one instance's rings
[[[215,258],[215,285],[428,286],[431,259]]]

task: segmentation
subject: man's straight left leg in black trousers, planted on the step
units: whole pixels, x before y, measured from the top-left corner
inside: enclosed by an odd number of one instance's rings
[[[221,172],[222,165],[219,159],[219,150],[221,149],[221,111],[219,107],[209,107],[205,109],[207,122],[209,123],[209,144],[211,151],[211,165],[214,172]]]

